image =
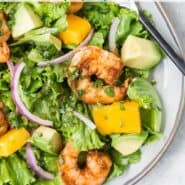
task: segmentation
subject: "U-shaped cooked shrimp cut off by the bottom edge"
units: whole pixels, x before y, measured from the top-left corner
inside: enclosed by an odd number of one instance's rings
[[[98,151],[88,152],[86,166],[82,169],[77,164],[78,155],[71,143],[67,143],[61,153],[64,163],[59,164],[59,170],[65,185],[101,185],[112,166],[109,155]]]

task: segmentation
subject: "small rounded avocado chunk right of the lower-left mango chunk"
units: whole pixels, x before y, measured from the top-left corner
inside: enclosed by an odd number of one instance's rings
[[[39,149],[50,154],[58,154],[62,148],[60,134],[55,129],[45,126],[37,128],[30,141]]]

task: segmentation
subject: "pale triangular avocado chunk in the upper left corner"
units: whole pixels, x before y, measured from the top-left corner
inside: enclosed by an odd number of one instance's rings
[[[18,38],[28,31],[43,25],[40,17],[27,4],[21,4],[15,13],[15,25],[12,28],[13,38]]]

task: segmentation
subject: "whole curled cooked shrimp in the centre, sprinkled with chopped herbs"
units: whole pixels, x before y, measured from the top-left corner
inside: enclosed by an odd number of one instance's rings
[[[83,79],[69,83],[73,91],[84,91],[80,97],[82,101],[89,104],[109,104],[124,98],[127,90],[125,83],[121,87],[115,86],[124,67],[124,63],[116,55],[96,46],[86,46],[75,54],[71,66],[79,68],[83,76]],[[108,86],[95,88],[90,80],[92,75],[104,80]],[[112,96],[106,93],[108,87],[114,91]]]

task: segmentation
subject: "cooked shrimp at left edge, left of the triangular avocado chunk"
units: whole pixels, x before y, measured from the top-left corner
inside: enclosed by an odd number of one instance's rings
[[[0,62],[6,62],[10,57],[10,49],[6,43],[10,37],[10,30],[3,12],[0,12],[0,23]]]

